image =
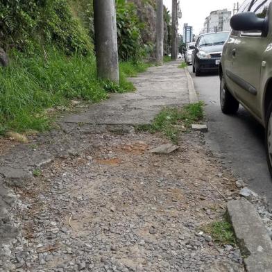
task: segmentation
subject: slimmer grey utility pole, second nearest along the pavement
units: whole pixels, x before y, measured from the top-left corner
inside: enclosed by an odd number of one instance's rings
[[[163,18],[163,1],[157,0],[157,17],[156,17],[156,62],[157,65],[163,64],[163,42],[164,42],[164,18]]]

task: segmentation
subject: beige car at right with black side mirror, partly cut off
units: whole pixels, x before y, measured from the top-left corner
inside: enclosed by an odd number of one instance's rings
[[[241,104],[264,126],[272,175],[271,0],[244,1],[230,25],[219,66],[221,110],[234,114]]]

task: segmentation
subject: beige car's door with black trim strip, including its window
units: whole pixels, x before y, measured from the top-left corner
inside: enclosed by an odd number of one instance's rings
[[[246,1],[244,12],[255,12],[257,17],[269,19],[271,0]],[[271,37],[258,31],[238,32],[232,40],[232,69],[226,74],[232,84],[235,96],[257,117],[262,116],[258,107],[260,99],[260,75],[263,54]]]

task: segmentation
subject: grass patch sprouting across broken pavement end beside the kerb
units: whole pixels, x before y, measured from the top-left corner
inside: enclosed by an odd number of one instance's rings
[[[150,133],[161,132],[174,144],[182,130],[190,128],[193,123],[203,120],[203,102],[188,104],[182,108],[165,108],[148,126],[139,126],[138,130],[148,130]]]

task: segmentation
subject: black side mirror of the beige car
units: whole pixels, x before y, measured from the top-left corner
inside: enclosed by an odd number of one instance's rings
[[[266,31],[266,20],[259,18],[254,12],[243,12],[230,19],[230,26],[235,31]]]

